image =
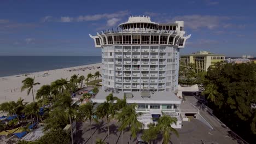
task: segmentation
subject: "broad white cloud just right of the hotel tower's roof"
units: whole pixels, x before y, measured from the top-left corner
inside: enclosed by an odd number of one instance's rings
[[[214,29],[220,26],[224,20],[229,20],[230,17],[226,16],[211,16],[211,15],[184,15],[176,16],[172,19],[184,21],[185,27],[191,29],[208,28]]]

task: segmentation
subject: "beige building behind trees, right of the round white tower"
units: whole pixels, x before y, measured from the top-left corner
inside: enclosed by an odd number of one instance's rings
[[[224,55],[218,55],[207,51],[199,51],[191,53],[190,55],[183,55],[179,59],[179,65],[181,68],[189,69],[190,63],[195,65],[195,73],[207,71],[210,65],[214,65],[217,62],[224,61]]]

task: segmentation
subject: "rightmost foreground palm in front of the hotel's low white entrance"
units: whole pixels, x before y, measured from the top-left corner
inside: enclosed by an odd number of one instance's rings
[[[162,142],[164,144],[169,143],[171,139],[170,133],[173,132],[177,137],[179,137],[178,131],[174,128],[172,128],[172,124],[177,124],[177,118],[176,117],[170,117],[163,115],[158,119],[158,124],[156,124],[156,128],[162,135]]]

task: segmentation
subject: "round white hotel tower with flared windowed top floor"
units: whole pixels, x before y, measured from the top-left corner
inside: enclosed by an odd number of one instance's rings
[[[144,112],[152,115],[161,114],[162,102],[166,100],[158,95],[167,95],[170,100],[164,109],[179,116],[181,100],[173,93],[178,91],[179,49],[190,38],[185,35],[184,22],[155,23],[148,16],[132,16],[119,27],[117,31],[90,35],[95,46],[102,50],[102,90],[111,88],[119,95],[130,93],[134,96],[132,101],[142,108],[145,105]],[[144,91],[152,92],[154,100],[150,103],[157,106],[147,104],[147,99],[139,100],[143,95],[139,93]],[[96,95],[93,101],[101,103],[102,98]]]

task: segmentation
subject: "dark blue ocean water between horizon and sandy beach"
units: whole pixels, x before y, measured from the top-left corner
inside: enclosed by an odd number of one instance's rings
[[[0,77],[100,62],[101,56],[0,56]]]

